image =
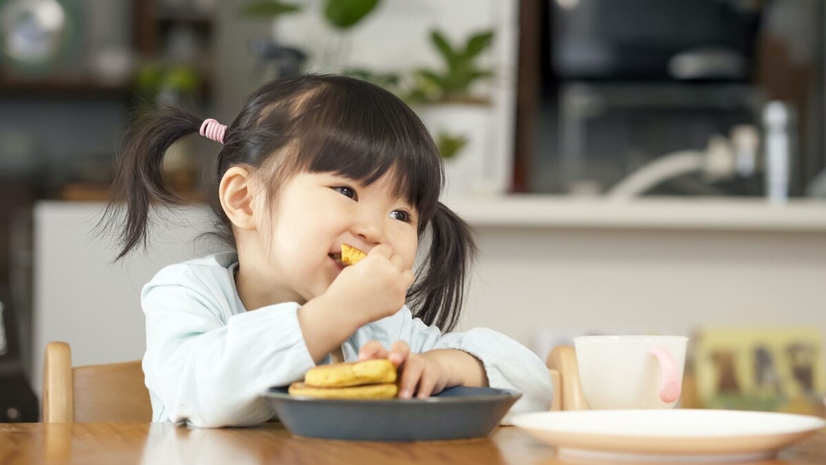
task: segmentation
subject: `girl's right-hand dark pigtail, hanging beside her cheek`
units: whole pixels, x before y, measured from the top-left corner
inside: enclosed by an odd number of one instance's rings
[[[449,332],[458,323],[465,278],[477,252],[473,235],[462,218],[438,203],[430,220],[430,250],[423,276],[407,292],[415,316]]]

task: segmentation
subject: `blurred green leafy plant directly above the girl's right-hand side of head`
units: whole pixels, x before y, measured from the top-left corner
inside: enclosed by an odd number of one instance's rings
[[[493,41],[493,31],[472,34],[461,46],[451,46],[441,31],[430,31],[430,42],[444,60],[444,68],[420,68],[413,73],[413,89],[406,99],[413,103],[472,102],[471,86],[479,79],[490,79],[493,71],[478,64],[479,56]]]

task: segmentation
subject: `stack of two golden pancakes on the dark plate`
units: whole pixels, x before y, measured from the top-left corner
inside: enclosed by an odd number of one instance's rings
[[[386,358],[313,367],[290,395],[319,399],[392,399],[398,394],[396,367]]]

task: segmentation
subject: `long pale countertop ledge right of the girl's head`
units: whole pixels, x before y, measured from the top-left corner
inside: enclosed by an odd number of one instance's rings
[[[513,194],[444,201],[474,227],[826,233],[826,201],[644,198],[629,202]]]

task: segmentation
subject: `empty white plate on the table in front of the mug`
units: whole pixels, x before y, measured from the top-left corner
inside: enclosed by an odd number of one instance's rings
[[[742,410],[567,410],[515,415],[513,424],[560,457],[710,462],[771,458],[826,420]]]

